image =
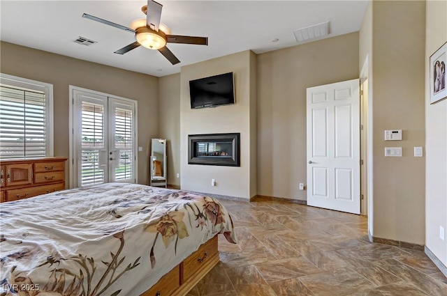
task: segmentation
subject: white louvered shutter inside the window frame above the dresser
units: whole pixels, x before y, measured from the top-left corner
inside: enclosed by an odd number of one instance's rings
[[[46,95],[13,86],[0,86],[0,159],[47,155]]]

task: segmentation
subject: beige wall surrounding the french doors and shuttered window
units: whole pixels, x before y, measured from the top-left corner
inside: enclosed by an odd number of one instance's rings
[[[54,156],[68,157],[68,86],[138,101],[138,182],[148,184],[150,139],[158,132],[158,78],[1,42],[0,72],[53,84]],[[68,180],[68,170],[67,178]]]

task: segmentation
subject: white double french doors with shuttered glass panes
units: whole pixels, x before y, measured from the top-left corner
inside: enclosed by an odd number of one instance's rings
[[[73,89],[73,187],[135,183],[136,102]]]

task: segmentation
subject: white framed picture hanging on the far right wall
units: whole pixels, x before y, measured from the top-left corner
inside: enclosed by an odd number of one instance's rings
[[[430,104],[447,98],[447,42],[430,56]]]

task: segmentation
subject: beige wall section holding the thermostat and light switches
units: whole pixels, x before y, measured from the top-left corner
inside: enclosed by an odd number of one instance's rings
[[[425,1],[373,1],[374,237],[425,243]],[[401,129],[402,141],[383,131]],[[384,157],[386,146],[403,157]]]

